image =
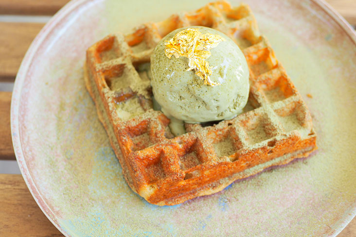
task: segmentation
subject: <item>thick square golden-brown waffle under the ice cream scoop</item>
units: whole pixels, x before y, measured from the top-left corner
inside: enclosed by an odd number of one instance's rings
[[[241,48],[249,65],[249,100],[234,119],[185,124],[186,133],[175,137],[170,120],[153,109],[150,55],[164,35],[195,25],[221,31]],[[305,102],[248,5],[217,1],[143,24],[132,34],[108,35],[88,49],[84,69],[127,184],[149,203],[174,205],[212,194],[317,149]]]

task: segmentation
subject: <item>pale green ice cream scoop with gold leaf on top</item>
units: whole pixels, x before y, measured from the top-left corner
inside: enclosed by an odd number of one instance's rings
[[[249,97],[249,68],[225,34],[194,26],[167,34],[151,55],[152,90],[162,112],[188,123],[232,119]]]

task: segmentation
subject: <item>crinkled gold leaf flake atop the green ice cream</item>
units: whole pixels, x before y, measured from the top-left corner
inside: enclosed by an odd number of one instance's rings
[[[178,32],[169,41],[165,42],[165,54],[168,58],[188,58],[189,70],[195,70],[196,75],[204,80],[204,85],[220,85],[210,81],[212,68],[205,59],[209,58],[212,53],[211,49],[215,48],[221,41],[225,41],[218,34],[202,34],[198,29],[188,28]]]

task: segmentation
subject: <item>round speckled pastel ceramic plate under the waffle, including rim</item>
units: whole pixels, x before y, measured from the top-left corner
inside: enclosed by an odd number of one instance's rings
[[[71,237],[336,236],[356,214],[356,36],[317,0],[246,0],[309,106],[317,152],[176,206],[151,205],[126,185],[84,86],[85,51],[109,33],[205,4],[172,2],[72,1],[36,37],[16,79],[11,127],[42,211]]]

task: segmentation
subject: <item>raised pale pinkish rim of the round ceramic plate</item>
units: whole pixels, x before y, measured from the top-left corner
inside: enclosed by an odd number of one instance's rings
[[[31,195],[35,199],[37,205],[41,211],[45,214],[48,220],[66,237],[77,236],[73,233],[68,233],[65,229],[61,227],[58,223],[58,218],[55,216],[49,205],[42,199],[40,192],[28,170],[26,160],[24,158],[24,152],[21,147],[21,139],[19,133],[18,124],[18,110],[20,104],[22,85],[26,79],[26,74],[32,63],[32,60],[36,54],[36,50],[39,48],[41,43],[47,38],[47,36],[55,29],[56,25],[59,24],[65,17],[68,17],[75,9],[80,8],[84,4],[94,3],[98,0],[71,0],[65,6],[63,6],[56,14],[51,17],[51,19],[45,24],[41,31],[36,35],[35,39],[28,48],[24,58],[22,59],[21,65],[18,69],[18,73],[14,83],[14,89],[11,98],[11,109],[10,109],[10,125],[11,125],[11,136],[12,144],[15,152],[15,156],[18,162],[19,169],[21,171],[22,177],[28,187]],[[213,1],[213,0],[212,0]],[[356,46],[356,32],[353,30],[352,26],[342,17],[336,10],[334,10],[330,4],[325,0],[309,0],[315,5],[319,6],[329,17],[331,17],[351,41]],[[356,202],[350,206],[349,211],[346,211],[340,221],[338,227],[332,228],[332,231],[328,235],[336,237],[356,216]],[[336,223],[337,223],[336,222]]]

